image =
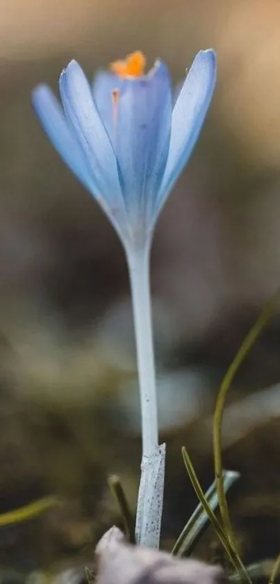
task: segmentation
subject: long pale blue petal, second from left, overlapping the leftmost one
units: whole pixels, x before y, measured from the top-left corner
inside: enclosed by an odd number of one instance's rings
[[[71,61],[60,75],[60,94],[67,120],[99,192],[112,213],[122,213],[124,203],[113,147],[94,105],[90,84],[76,61]]]

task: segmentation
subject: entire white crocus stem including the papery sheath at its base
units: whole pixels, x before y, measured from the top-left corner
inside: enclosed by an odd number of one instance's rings
[[[142,463],[136,514],[138,544],[158,548],[163,511],[165,445],[158,445],[158,410],[154,364],[149,247],[126,253],[131,281],[142,416]]]

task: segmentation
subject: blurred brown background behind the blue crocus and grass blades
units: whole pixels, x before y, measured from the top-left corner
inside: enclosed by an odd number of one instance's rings
[[[120,473],[135,505],[140,463],[124,254],[44,136],[33,86],[57,89],[72,58],[92,76],[135,49],[149,65],[165,60],[175,83],[199,49],[217,51],[211,112],[152,256],[168,546],[195,505],[180,447],[208,486],[217,387],[280,284],[280,4],[1,0],[0,14],[0,505],[62,500],[0,527],[6,581],[89,562],[98,535],[117,521],[108,473]],[[277,316],[240,371],[231,392],[239,409],[224,425],[225,465],[242,470],[233,518],[248,562],[278,551],[280,394],[258,397],[280,381],[279,345]]]

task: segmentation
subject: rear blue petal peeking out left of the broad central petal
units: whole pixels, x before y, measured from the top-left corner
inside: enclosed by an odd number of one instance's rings
[[[120,90],[121,86],[122,79],[110,71],[97,72],[92,84],[94,102],[112,144],[115,142],[112,93],[115,89]]]

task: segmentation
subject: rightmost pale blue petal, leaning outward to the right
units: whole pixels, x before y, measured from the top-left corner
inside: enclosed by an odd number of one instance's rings
[[[215,88],[216,55],[200,51],[192,63],[172,112],[170,151],[158,194],[158,212],[195,146]]]

